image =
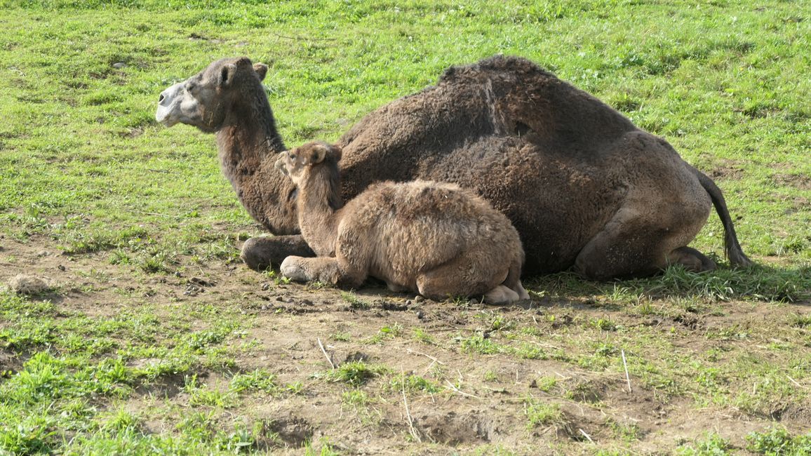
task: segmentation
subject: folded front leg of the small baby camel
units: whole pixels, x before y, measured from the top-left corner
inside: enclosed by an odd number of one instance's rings
[[[281,262],[279,271],[281,275],[296,282],[317,281],[346,287],[360,286],[366,279],[346,261],[328,256],[288,256]]]

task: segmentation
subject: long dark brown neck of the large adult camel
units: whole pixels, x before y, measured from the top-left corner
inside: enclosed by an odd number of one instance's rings
[[[242,88],[217,131],[223,174],[247,212],[273,234],[298,233],[294,186],[273,169],[285,144],[257,80]]]

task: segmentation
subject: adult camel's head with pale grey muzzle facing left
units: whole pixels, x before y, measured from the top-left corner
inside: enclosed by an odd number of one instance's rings
[[[268,67],[247,57],[222,58],[191,78],[161,92],[155,119],[172,127],[185,123],[207,133],[224,126],[234,102],[251,89],[262,90]]]

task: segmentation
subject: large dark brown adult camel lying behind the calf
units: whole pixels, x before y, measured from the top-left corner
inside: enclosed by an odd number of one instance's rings
[[[162,93],[156,117],[217,131],[223,170],[242,204],[274,234],[294,234],[293,186],[269,170],[284,147],[260,84],[265,71],[247,58],[213,62]],[[672,263],[712,269],[686,246],[713,205],[730,262],[750,264],[711,179],[667,141],[523,58],[452,67],[436,86],[368,114],[337,145],[346,199],[381,180],[477,191],[521,234],[525,272],[574,267],[607,279]],[[297,238],[260,237],[242,256],[261,268],[306,250]]]

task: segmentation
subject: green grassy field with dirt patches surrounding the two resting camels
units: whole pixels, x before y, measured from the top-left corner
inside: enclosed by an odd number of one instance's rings
[[[811,4],[0,0],[0,454],[811,454]],[[158,94],[247,55],[288,146],[517,54],[664,136],[746,270],[488,308],[255,273]],[[723,263],[717,217],[692,244]]]

